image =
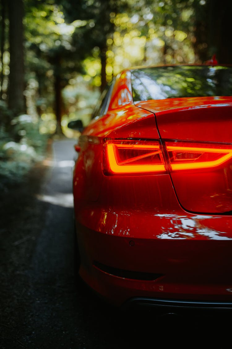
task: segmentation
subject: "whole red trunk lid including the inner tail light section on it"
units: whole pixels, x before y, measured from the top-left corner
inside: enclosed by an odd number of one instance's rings
[[[232,98],[171,98],[136,104],[156,116],[180,205],[196,213],[232,214],[232,159],[230,155],[223,158],[227,149],[228,154],[232,151]],[[179,165],[172,165],[170,154],[175,160],[179,157]],[[183,154],[195,157],[193,162],[201,166],[182,166],[186,164]],[[196,160],[198,156],[203,160]]]

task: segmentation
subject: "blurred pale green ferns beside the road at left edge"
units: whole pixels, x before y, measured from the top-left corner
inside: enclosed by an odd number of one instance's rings
[[[11,116],[4,103],[0,103],[2,116]],[[39,133],[39,123],[29,115],[13,118],[11,127],[0,126],[0,190],[20,183],[31,166],[42,159],[46,136]]]

